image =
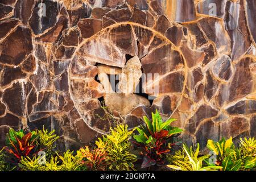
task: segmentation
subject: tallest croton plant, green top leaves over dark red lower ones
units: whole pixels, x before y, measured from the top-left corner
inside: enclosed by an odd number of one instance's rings
[[[163,122],[162,117],[156,110],[152,113],[152,120],[143,117],[146,126],[137,127],[138,135],[134,135],[134,144],[140,150],[143,158],[141,168],[150,166],[163,166],[166,164],[166,157],[171,152],[171,147],[175,144],[175,135],[183,130],[172,127],[170,124],[176,119],[168,119]]]

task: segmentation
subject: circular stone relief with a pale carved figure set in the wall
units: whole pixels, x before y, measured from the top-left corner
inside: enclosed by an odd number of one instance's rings
[[[84,122],[106,134],[118,123],[136,127],[156,109],[171,117],[183,97],[186,71],[181,51],[166,36],[137,23],[117,23],[77,48],[69,92]]]

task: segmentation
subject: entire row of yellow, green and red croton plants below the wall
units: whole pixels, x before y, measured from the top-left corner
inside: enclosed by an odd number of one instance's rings
[[[207,142],[209,155],[200,155],[200,146],[183,144],[174,150],[177,137],[183,130],[172,127],[175,119],[162,121],[156,110],[152,119],[144,117],[144,125],[128,130],[118,125],[98,138],[96,145],[78,151],[57,151],[59,136],[47,129],[15,131],[6,135],[6,146],[0,150],[0,171],[82,171],[168,169],[180,171],[238,171],[254,170],[256,140],[240,138],[236,147],[232,138]],[[180,147],[177,145],[177,147]],[[205,150],[204,150],[205,151]],[[210,154],[213,154],[210,156]],[[138,159],[138,160],[137,160]],[[212,160],[213,159],[213,160]]]

